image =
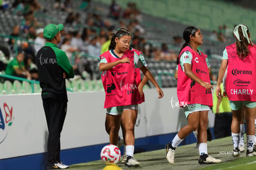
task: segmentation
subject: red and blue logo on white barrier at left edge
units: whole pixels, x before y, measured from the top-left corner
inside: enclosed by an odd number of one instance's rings
[[[4,103],[3,110],[0,108],[0,144],[6,139],[9,127],[12,126],[13,122],[12,107],[11,109]]]

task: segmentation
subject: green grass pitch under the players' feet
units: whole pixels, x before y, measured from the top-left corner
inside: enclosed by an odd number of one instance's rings
[[[134,155],[140,162],[140,167],[137,169],[256,169],[256,156],[246,158],[246,153],[242,152],[239,158],[233,158],[231,137],[208,142],[208,155],[221,159],[222,163],[219,164],[198,164],[198,148],[194,147],[194,145],[190,144],[176,148],[174,164],[169,164],[166,160],[164,148],[152,152],[137,153]],[[117,165],[122,169],[128,169],[122,163]],[[73,164],[70,169],[95,170],[103,169],[104,167],[105,164],[99,160]]]

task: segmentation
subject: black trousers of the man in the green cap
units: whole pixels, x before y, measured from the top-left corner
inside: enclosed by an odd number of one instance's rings
[[[61,131],[67,113],[67,102],[51,98],[43,99],[46,122],[48,126],[48,165],[60,162]]]

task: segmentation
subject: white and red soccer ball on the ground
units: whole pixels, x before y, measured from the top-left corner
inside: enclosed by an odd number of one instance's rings
[[[116,145],[106,145],[101,149],[100,158],[103,163],[116,164],[121,158],[121,151]]]

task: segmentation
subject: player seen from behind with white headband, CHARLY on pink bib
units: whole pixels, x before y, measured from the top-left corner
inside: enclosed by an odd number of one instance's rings
[[[242,118],[242,110],[245,111],[245,122],[247,124],[247,156],[255,156],[255,113],[256,113],[256,46],[250,40],[249,28],[240,24],[234,28],[236,42],[226,46],[223,52],[223,60],[218,75],[216,95],[220,97],[220,84],[226,68],[226,97],[229,98],[233,121],[231,124],[232,140],[234,144],[233,156],[240,155],[239,129]]]

